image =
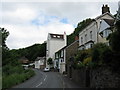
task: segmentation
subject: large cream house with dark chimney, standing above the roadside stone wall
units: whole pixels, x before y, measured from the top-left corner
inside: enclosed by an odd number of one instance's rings
[[[106,37],[111,33],[108,28],[112,25],[113,21],[114,17],[110,14],[108,5],[103,5],[102,15],[93,19],[93,21],[79,33],[79,50],[91,48],[93,44],[99,42],[106,43]],[[103,35],[101,35],[101,32],[103,32]]]

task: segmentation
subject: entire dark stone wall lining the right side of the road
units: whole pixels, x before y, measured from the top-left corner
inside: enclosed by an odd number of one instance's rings
[[[72,68],[72,80],[80,87],[91,88],[120,88],[120,75],[103,66],[94,69]]]

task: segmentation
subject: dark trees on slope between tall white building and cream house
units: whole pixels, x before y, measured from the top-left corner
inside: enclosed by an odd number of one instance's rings
[[[78,23],[77,27],[75,28],[74,32],[67,36],[67,45],[70,45],[74,42],[75,36],[79,35],[79,32],[81,32],[87,25],[89,25],[93,19],[86,19]]]

